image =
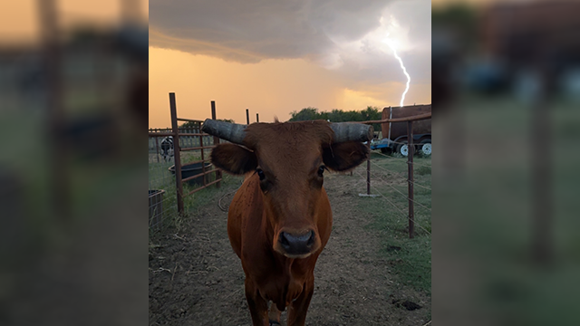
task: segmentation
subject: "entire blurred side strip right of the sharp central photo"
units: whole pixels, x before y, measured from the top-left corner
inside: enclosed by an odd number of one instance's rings
[[[469,4],[432,7],[433,320],[578,325],[580,3]]]

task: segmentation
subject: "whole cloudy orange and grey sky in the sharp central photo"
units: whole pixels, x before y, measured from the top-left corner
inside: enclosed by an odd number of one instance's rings
[[[150,0],[150,127],[430,103],[430,1]]]

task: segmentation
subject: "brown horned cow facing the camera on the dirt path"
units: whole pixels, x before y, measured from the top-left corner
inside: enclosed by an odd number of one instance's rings
[[[212,150],[214,165],[246,179],[227,215],[227,235],[246,273],[255,326],[304,325],[314,292],[314,264],[328,242],[333,213],[324,170],[364,161],[372,127],[324,120],[254,123],[206,120],[203,131],[235,144]],[[272,302],[268,313],[268,302]]]

